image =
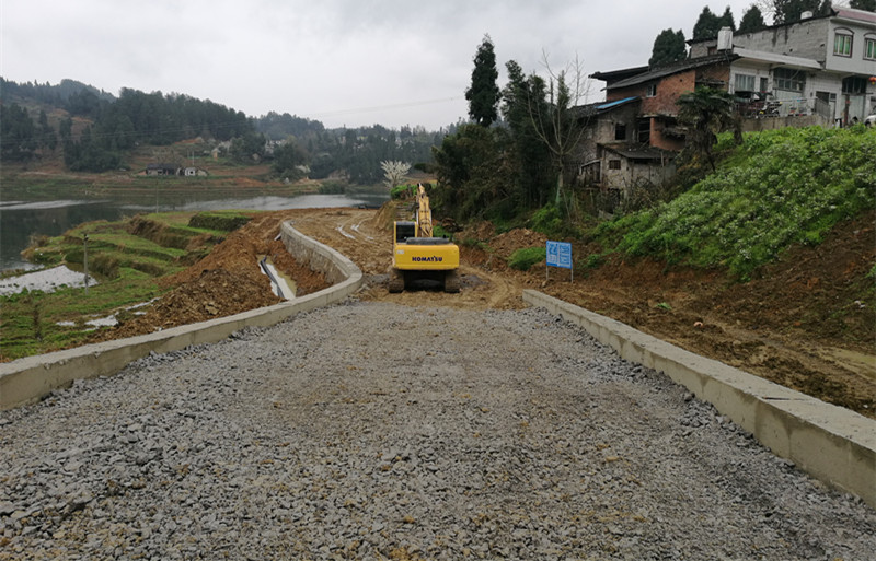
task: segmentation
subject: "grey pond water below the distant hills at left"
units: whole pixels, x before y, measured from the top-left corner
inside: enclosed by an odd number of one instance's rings
[[[69,199],[54,201],[0,201],[0,271],[33,269],[21,252],[36,235],[57,236],[83,222],[119,220],[146,212],[201,210],[285,210],[334,207],[378,207],[387,195],[260,195],[247,198],[210,198],[209,194],[173,194],[161,198],[128,200]]]

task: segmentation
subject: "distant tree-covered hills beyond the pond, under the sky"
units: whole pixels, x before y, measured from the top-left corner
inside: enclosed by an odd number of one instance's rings
[[[102,173],[129,167],[136,147],[201,139],[240,164],[269,163],[275,178],[360,185],[383,180],[383,161],[430,162],[443,138],[410,127],[326,129],[288,113],[249,117],[184,94],[123,89],[116,96],[74,80],[20,84],[1,77],[0,122],[4,164],[51,161],[70,172]]]

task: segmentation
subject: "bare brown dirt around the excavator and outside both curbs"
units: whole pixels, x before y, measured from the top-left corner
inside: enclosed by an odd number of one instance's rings
[[[359,266],[365,274],[361,300],[519,309],[525,307],[522,290],[537,289],[692,352],[876,418],[876,302],[844,311],[839,324],[834,309],[834,301],[849,297],[843,291],[860,292],[854,282],[866,281],[861,270],[876,260],[874,227],[868,223],[852,224],[848,233],[838,234],[841,239],[789,256],[789,264],[780,264],[763,279],[746,284],[729,284],[714,272],[666,271],[664,265],[648,261],[609,262],[590,274],[576,274],[574,283],[568,282],[567,271],[552,270],[545,282],[543,264],[528,272],[505,264],[515,248],[542,245],[544,236],[522,230],[497,236],[483,226],[459,236],[491,248],[486,253],[475,248],[477,244],[461,247],[461,293],[389,294],[391,234],[387,217],[365,209],[260,213],[175,279],[181,284],[174,292],[183,295],[154,306],[162,315],[141,318],[136,326],[123,325],[101,338],[127,337],[154,326],[182,325],[273,303],[276,300],[267,302],[260,295],[264,291],[255,289],[260,283],[267,287],[255,265],[261,255],[274,256],[278,268],[297,279],[299,288],[306,287],[306,292],[319,290],[324,280],[296,264],[274,241],[286,220]],[[231,303],[233,307],[223,307]]]

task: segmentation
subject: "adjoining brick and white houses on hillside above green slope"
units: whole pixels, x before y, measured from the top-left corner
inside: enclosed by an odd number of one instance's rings
[[[736,95],[744,130],[845,126],[876,113],[876,13],[838,7],[689,44],[685,60],[591,74],[606,82],[606,102],[579,107],[579,183],[620,200],[671,177],[685,137],[677,102],[700,85]]]

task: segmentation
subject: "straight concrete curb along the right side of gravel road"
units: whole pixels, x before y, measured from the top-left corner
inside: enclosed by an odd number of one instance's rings
[[[664,372],[812,477],[876,507],[876,421],[534,290],[523,301],[581,326],[622,359]]]

